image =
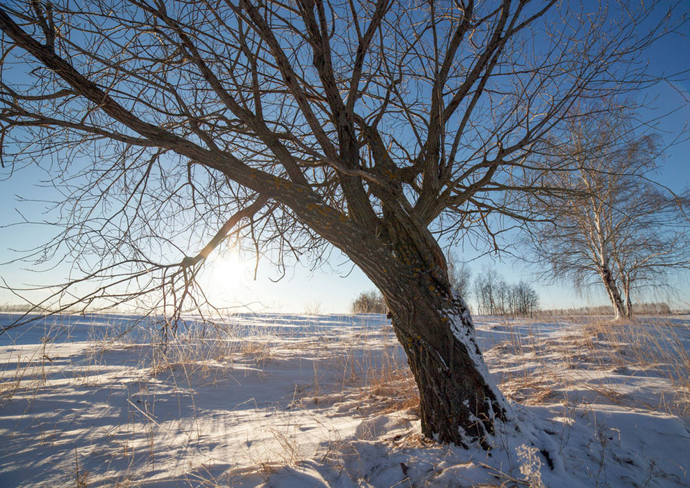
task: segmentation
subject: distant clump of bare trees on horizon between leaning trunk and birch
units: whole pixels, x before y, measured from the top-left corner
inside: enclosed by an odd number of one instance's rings
[[[484,315],[533,317],[539,310],[539,295],[526,282],[507,283],[496,270],[487,268],[475,280],[477,312]]]

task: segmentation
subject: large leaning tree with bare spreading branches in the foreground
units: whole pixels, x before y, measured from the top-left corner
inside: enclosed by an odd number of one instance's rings
[[[516,194],[558,191],[530,158],[575,100],[650,81],[638,60],[664,27],[638,29],[649,13],[6,1],[2,161],[45,165],[63,192],[61,233],[35,255],[73,262],[61,306],[142,293],[162,310],[204,305],[194,278],[236,238],[279,269],[339,248],[385,297],[424,434],[488,446],[509,405],[436,239],[475,232],[498,247],[532,218]]]

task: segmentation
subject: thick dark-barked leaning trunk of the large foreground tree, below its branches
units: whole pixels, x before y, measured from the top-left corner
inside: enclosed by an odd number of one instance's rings
[[[387,222],[395,222],[390,216]],[[440,247],[421,228],[388,228],[390,268],[362,269],[381,289],[420,392],[422,432],[485,447],[509,406],[489,378],[466,302],[452,289]]]

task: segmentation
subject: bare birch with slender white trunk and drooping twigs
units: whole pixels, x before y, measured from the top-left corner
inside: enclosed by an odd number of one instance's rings
[[[569,123],[551,158],[569,160],[573,171],[549,179],[572,191],[530,199],[546,217],[530,232],[537,260],[578,287],[603,284],[617,319],[631,317],[634,291],[690,268],[690,198],[651,180],[659,138],[636,134],[633,120],[621,107]]]

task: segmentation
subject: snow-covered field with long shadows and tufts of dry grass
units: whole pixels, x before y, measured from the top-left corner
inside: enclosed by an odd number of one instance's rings
[[[422,438],[380,315],[238,315],[165,351],[122,316],[10,330],[0,487],[690,485],[687,321],[476,324],[520,427],[489,452]]]

